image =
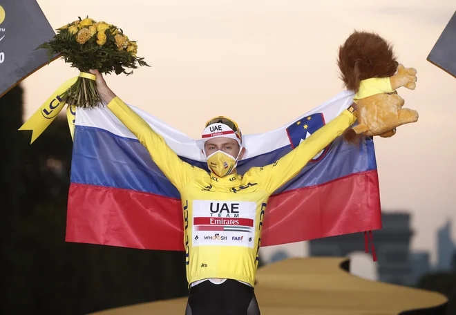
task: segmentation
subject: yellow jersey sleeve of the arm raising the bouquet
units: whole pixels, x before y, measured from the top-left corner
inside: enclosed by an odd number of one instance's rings
[[[171,183],[182,191],[185,185],[197,174],[198,168],[194,168],[187,162],[180,160],[178,155],[167,145],[163,137],[155,133],[140,115],[137,115],[122,99],[115,97],[108,104],[108,108],[114,115],[133,133],[146,147],[151,158]],[[200,170],[201,171],[201,170]]]

